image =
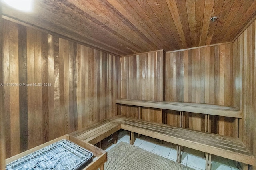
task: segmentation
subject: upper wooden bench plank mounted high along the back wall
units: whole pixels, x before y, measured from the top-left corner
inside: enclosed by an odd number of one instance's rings
[[[204,103],[189,103],[177,101],[146,101],[134,99],[116,99],[116,104],[133,105],[140,107],[152,107],[158,109],[168,109],[174,111],[185,111],[194,113],[203,113],[207,115],[218,115],[225,117],[242,118],[242,111],[233,106],[211,105]]]

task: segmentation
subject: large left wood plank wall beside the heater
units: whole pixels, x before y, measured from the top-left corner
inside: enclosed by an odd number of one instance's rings
[[[1,21],[6,158],[114,115],[119,57]]]

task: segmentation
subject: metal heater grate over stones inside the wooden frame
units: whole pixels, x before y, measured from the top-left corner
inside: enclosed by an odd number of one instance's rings
[[[6,166],[6,170],[78,170],[92,162],[93,154],[68,141],[60,140]]]

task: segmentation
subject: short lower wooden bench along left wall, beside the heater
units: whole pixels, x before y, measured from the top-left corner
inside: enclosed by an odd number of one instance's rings
[[[116,132],[120,129],[120,123],[111,122],[109,120],[103,120],[94,125],[72,132],[69,135],[74,136],[80,140],[83,140],[84,142],[88,142],[93,145],[100,142],[100,148],[102,148],[102,140],[112,134],[114,134],[113,143],[116,144]]]

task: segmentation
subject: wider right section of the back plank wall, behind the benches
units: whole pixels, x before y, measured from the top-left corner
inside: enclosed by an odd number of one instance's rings
[[[166,101],[232,105],[232,44],[166,53]],[[166,111],[178,126],[179,112]],[[204,131],[205,117],[183,113],[184,127]],[[237,137],[235,119],[210,116],[210,131]]]

